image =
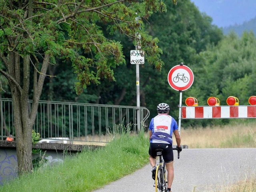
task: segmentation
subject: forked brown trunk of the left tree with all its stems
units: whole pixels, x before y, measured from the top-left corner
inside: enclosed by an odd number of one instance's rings
[[[40,75],[37,78],[37,70],[34,70],[33,101],[31,109],[28,107],[28,92],[30,83],[30,56],[24,56],[23,65],[20,56],[14,52],[9,53],[6,75],[13,101],[14,128],[16,136],[16,150],[18,159],[18,174],[32,171],[32,128],[36,119],[38,103],[42,93],[42,87],[46,71],[50,62],[50,55],[44,56]],[[23,82],[20,86],[20,66],[23,66]],[[30,111],[29,111],[30,109]]]

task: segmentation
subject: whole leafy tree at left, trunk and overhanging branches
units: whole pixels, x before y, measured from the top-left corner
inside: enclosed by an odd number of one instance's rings
[[[142,48],[148,62],[160,70],[162,50],[158,39],[144,31],[144,21],[165,8],[160,0],[0,2],[0,58],[5,66],[0,74],[8,80],[13,100],[19,174],[32,170],[32,126],[44,80],[50,76],[49,66],[72,62],[77,94],[102,78],[115,80],[113,69],[125,63],[122,44],[104,34],[118,30]],[[108,25],[108,31],[102,31],[101,23]],[[32,99],[31,108],[28,99]]]

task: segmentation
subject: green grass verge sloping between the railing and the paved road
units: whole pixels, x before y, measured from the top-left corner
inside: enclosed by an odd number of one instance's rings
[[[1,192],[90,192],[148,163],[148,138],[122,134],[106,147],[85,150],[63,164],[40,168],[0,186]]]

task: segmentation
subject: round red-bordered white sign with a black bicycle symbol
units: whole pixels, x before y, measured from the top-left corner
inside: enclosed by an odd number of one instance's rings
[[[187,90],[193,82],[194,74],[186,65],[176,65],[168,73],[168,83],[174,90]]]

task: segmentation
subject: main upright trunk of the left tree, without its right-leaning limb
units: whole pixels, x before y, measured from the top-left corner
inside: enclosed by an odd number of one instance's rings
[[[31,128],[28,118],[29,64],[29,57],[25,56],[23,62],[23,89],[21,89],[19,86],[20,56],[14,52],[9,53],[8,72],[10,73],[12,80],[8,79],[8,82],[10,84],[13,101],[18,174],[31,172],[32,170],[32,130],[28,131]]]

